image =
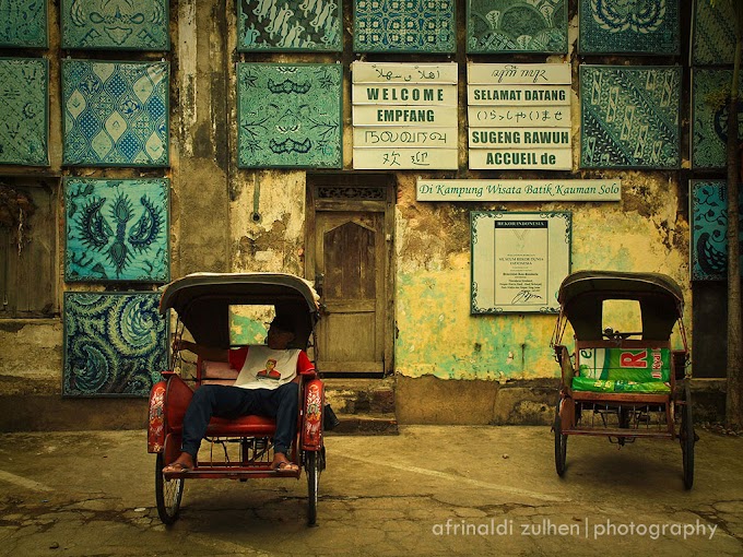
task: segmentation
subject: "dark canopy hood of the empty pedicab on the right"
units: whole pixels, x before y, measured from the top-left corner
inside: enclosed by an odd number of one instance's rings
[[[668,341],[684,313],[684,297],[676,282],[660,273],[578,271],[559,286],[561,313],[573,325],[576,339],[602,339],[602,308],[606,299],[637,300],[642,319],[642,339]]]

